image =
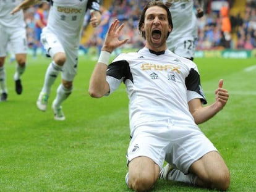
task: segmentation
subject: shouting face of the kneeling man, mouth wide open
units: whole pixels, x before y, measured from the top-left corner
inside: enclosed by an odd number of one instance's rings
[[[148,8],[142,31],[145,31],[147,48],[155,51],[165,50],[168,32],[171,32],[166,10],[159,6]]]

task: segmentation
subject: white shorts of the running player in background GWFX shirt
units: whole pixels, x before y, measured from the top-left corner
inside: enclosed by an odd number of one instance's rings
[[[66,81],[73,81],[75,75],[77,75],[78,49],[72,49],[71,46],[68,46],[63,40],[61,41],[54,33],[44,30],[41,33],[41,43],[52,59],[57,52],[66,54],[66,62],[61,72],[61,78]]]

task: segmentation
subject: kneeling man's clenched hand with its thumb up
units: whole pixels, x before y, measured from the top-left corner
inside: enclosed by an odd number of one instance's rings
[[[229,98],[229,93],[227,90],[223,88],[223,79],[221,79],[219,81],[218,88],[215,90],[216,107],[220,110],[223,109],[223,107],[228,102],[228,98]]]

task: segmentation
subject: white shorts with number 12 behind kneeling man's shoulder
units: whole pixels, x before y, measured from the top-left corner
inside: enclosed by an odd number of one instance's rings
[[[195,54],[195,41],[197,38],[188,36],[186,38],[179,38],[177,40],[171,39],[168,41],[168,49],[178,56],[191,58]]]

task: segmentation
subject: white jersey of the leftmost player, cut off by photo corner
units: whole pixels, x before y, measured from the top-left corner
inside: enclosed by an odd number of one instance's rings
[[[25,21],[23,10],[11,15],[12,9],[18,6],[22,0],[0,0],[0,26],[8,28],[24,28]]]

